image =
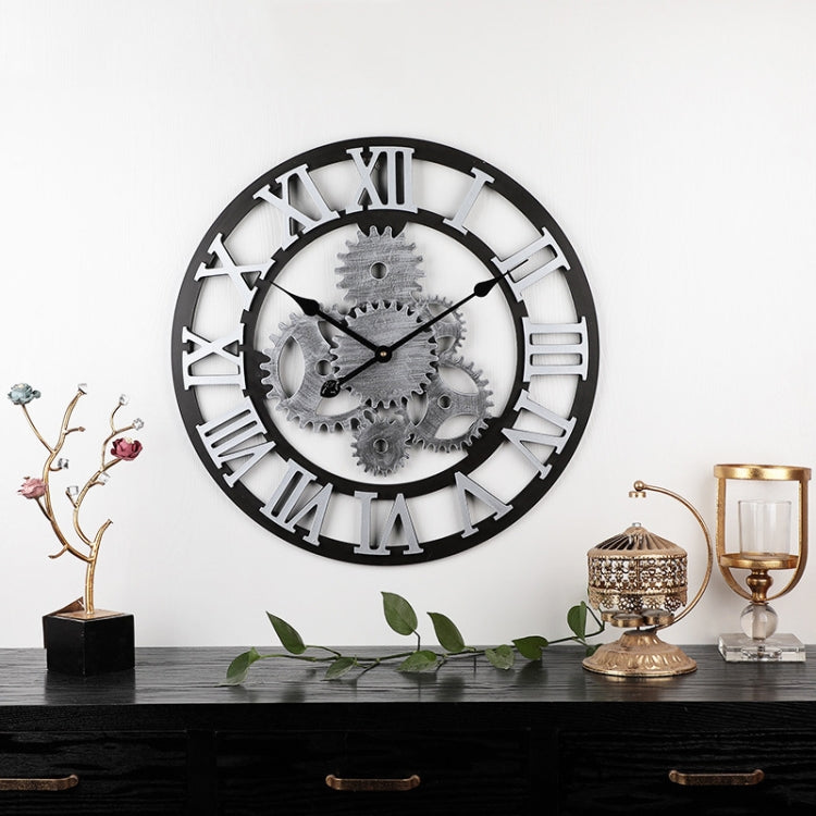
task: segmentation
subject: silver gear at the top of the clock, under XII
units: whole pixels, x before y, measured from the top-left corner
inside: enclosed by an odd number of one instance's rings
[[[343,265],[335,270],[341,276],[337,284],[346,289],[345,300],[356,304],[372,304],[380,300],[410,302],[422,290],[419,279],[425,273],[419,270],[422,256],[413,250],[405,235],[392,235],[390,226],[378,233],[372,226],[369,234],[357,232],[357,243],[346,242],[348,252],[338,255]]]

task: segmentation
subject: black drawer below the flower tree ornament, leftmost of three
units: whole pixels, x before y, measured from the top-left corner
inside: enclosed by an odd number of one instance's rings
[[[184,733],[0,733],[0,779],[49,780],[39,787],[62,787],[0,790],[0,813],[180,814],[186,772]],[[73,779],[50,781],[72,775],[75,784]]]

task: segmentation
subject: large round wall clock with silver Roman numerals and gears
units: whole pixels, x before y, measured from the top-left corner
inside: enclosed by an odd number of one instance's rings
[[[219,486],[309,552],[411,564],[479,544],[560,477],[597,322],[552,215],[481,159],[395,137],[269,171],[203,236],[173,378]]]

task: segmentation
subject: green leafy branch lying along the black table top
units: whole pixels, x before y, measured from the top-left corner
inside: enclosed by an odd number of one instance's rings
[[[222,685],[240,685],[247,679],[249,669],[255,663],[272,658],[326,664],[325,680],[337,680],[355,669],[358,670],[359,676],[383,664],[396,662],[399,662],[396,663],[396,670],[406,673],[437,671],[450,659],[480,656],[485,657],[491,666],[506,671],[514,666],[517,654],[528,660],[539,660],[544,650],[556,643],[580,643],[585,647],[586,654],[591,655],[597,646],[590,645],[588,640],[601,634],[605,629],[604,622],[584,602],[581,602],[567,613],[567,626],[572,632],[570,635],[547,640],[539,634],[532,634],[491,648],[477,648],[466,645],[461,632],[450,618],[442,613],[430,611],[428,617],[431,619],[434,634],[442,648],[442,651],[435,651],[422,647],[419,618],[413,607],[401,595],[393,592],[381,594],[385,622],[397,634],[406,638],[415,636],[417,639],[415,648],[378,657],[344,655],[329,646],[305,643],[300,633],[290,623],[276,615],[267,613],[284,652],[261,654],[252,646],[248,652],[243,652],[233,659],[226,669],[226,678]],[[590,621],[596,627],[592,632],[586,631]]]

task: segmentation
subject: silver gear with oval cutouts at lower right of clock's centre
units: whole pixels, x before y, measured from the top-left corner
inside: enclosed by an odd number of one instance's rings
[[[475,391],[460,392],[445,382],[446,368],[463,371],[475,385]],[[411,441],[430,450],[446,453],[461,450],[466,445],[470,445],[486,426],[489,408],[493,405],[489,398],[492,392],[486,386],[487,381],[482,379],[481,372],[473,369],[472,363],[466,363],[461,357],[441,357],[438,371],[425,388],[425,413],[422,419],[409,426]],[[472,417],[473,420],[456,436],[438,436],[442,425],[455,417]]]

